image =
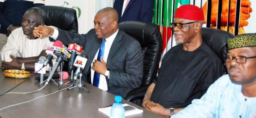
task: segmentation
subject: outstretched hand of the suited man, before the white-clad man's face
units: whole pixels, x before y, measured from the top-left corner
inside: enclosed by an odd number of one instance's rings
[[[35,29],[33,30],[33,35],[35,37],[45,37],[45,36],[52,36],[54,32],[54,29],[51,27],[47,27],[47,26],[38,26],[35,27]]]

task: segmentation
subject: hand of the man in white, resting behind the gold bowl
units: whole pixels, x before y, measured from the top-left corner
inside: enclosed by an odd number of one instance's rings
[[[12,59],[11,62],[6,62],[6,61],[3,61],[2,62],[2,66],[5,67],[5,68],[15,68],[15,69],[20,69],[21,68],[21,64],[17,58],[13,57],[12,55],[10,55],[10,58]]]

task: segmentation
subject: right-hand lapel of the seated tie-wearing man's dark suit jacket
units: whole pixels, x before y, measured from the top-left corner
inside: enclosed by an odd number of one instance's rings
[[[117,51],[117,49],[119,48],[119,46],[120,46],[120,40],[122,39],[122,35],[123,35],[123,33],[121,32],[121,30],[119,29],[118,30],[118,32],[117,32],[117,35],[116,35],[116,37],[115,37],[115,39],[114,39],[114,41],[113,41],[113,43],[112,43],[112,45],[111,45],[111,48],[110,48],[110,50],[109,50],[109,53],[108,53],[108,60],[107,60],[107,66],[108,66],[108,68],[109,68],[109,64],[111,63],[111,61],[112,61],[112,57],[113,57],[113,55],[116,53],[116,51]]]

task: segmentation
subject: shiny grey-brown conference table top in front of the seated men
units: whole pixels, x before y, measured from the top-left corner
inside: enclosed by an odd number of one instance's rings
[[[37,77],[40,75],[37,74]],[[0,95],[9,89],[12,89],[24,79],[5,77],[0,72]],[[57,81],[58,82],[58,81]],[[52,81],[50,83],[53,83]],[[0,109],[12,104],[18,104],[30,101],[41,95],[48,95],[58,90],[57,85],[48,84],[39,92],[30,94],[7,94],[0,96]],[[40,89],[39,81],[31,78],[17,86],[11,92],[31,92]],[[61,87],[61,89],[67,86]],[[88,93],[84,89],[74,88],[69,91],[63,90],[52,95],[35,99],[34,101],[11,106],[0,111],[3,118],[109,118],[108,115],[100,112],[98,109],[103,106],[113,104],[114,95],[85,83],[85,88],[89,89]],[[148,110],[123,100],[122,104],[127,103],[138,109],[143,109],[143,113],[131,115],[127,118],[162,118],[161,116],[149,112]]]

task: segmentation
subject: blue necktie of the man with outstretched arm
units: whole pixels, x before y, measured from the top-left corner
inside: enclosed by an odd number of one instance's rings
[[[101,62],[100,57],[103,57],[103,55],[104,55],[105,42],[106,42],[106,40],[104,39],[100,46],[100,49],[99,49],[99,54],[98,54],[97,60],[99,60],[100,62]],[[99,76],[100,76],[99,73],[94,72],[93,86],[99,87]]]

